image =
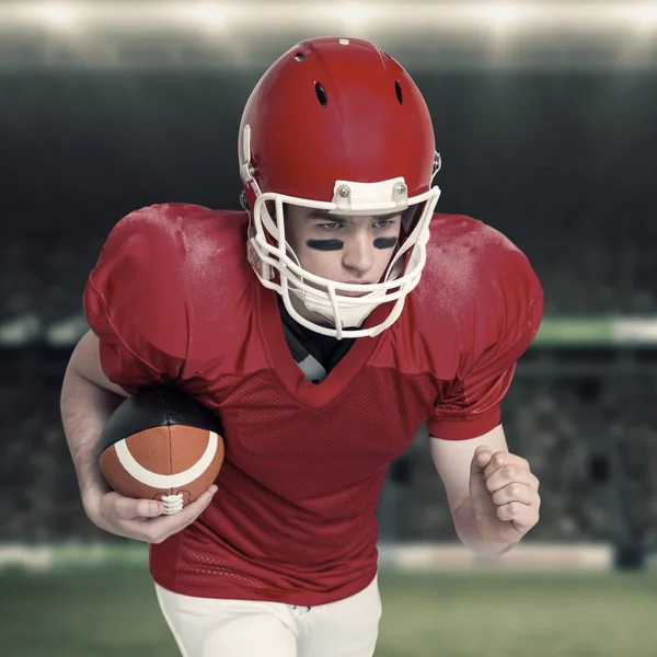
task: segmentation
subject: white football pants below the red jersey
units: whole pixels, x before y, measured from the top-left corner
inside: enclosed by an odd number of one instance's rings
[[[318,607],[173,593],[155,584],[183,657],[371,657],[381,598],[378,578],[359,593]]]

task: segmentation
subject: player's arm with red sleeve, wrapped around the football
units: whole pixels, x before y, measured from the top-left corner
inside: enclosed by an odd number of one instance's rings
[[[216,487],[173,516],[152,499],[110,491],[99,443],[110,415],[130,394],[175,381],[186,350],[184,299],[173,291],[166,208],[128,216],[112,231],[84,291],[92,328],[76,346],[64,379],[60,411],[89,518],[111,533],[160,543],[191,525]],[[175,246],[175,245],[173,245]],[[177,356],[176,356],[177,354]]]

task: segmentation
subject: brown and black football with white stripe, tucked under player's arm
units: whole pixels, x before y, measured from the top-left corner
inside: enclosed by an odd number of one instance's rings
[[[100,468],[111,488],[136,499],[160,499],[177,514],[217,479],[223,463],[219,418],[189,395],[149,388],[110,416]]]

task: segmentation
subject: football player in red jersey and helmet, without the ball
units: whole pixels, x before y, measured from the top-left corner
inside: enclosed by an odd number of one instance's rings
[[[238,155],[244,211],[134,211],[89,277],[61,400],[84,508],[149,543],[183,655],[371,656],[374,510],[423,423],[465,546],[504,553],[538,521],[500,403],[541,286],[499,232],[435,214],[429,112],[370,43],[280,57]],[[110,492],[94,457],[117,404],[162,384],[216,412],[227,440],[215,485],[175,516]]]

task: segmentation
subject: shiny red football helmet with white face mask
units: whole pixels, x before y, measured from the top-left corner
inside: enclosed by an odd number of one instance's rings
[[[262,284],[318,333],[360,337],[390,326],[419,283],[440,195],[431,187],[440,169],[431,118],[408,73],[365,41],[301,42],[253,90],[240,126],[239,158],[252,218],[250,261]],[[338,284],[303,269],[285,239],[284,204],[339,215],[404,212],[402,240],[384,278]],[[366,293],[348,297],[338,290]],[[335,328],[302,318],[290,292]],[[382,323],[345,330],[390,301],[395,303]]]

